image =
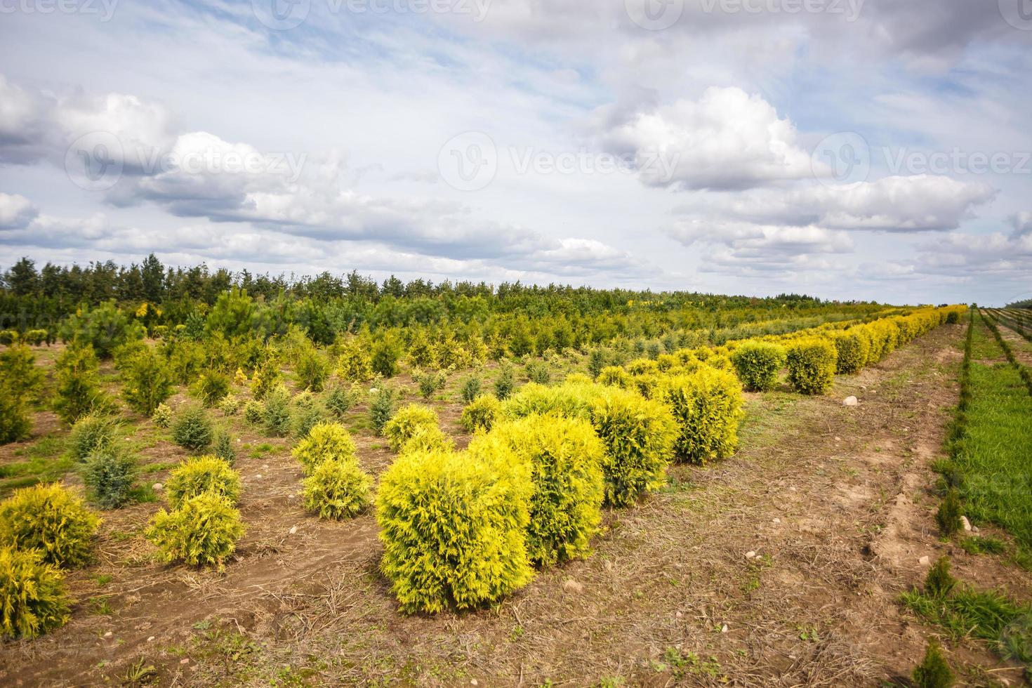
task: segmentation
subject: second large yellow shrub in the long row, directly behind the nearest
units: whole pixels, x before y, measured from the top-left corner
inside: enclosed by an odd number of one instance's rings
[[[586,420],[528,416],[478,435],[470,454],[529,466],[534,486],[526,549],[539,565],[562,563],[590,552],[599,531],[605,448]]]

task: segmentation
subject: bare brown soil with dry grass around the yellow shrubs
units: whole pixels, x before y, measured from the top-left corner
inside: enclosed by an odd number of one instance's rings
[[[749,395],[733,459],[674,467],[667,489],[606,515],[589,559],[461,615],[397,614],[373,515],[307,515],[291,443],[234,426],[271,449],[237,459],[249,531],[225,574],[154,562],[139,531],[159,503],[106,513],[99,561],[68,576],[71,622],[0,647],[0,684],[902,685],[935,633],[898,603],[923,561],[948,553],[962,581],[1021,599],[1032,583],[936,532],[929,465],[963,333],[940,327],[826,396]],[[457,405],[439,408],[459,432]],[[357,441],[370,471],[391,460]],[[980,644],[945,648],[966,684],[1022,681]]]

